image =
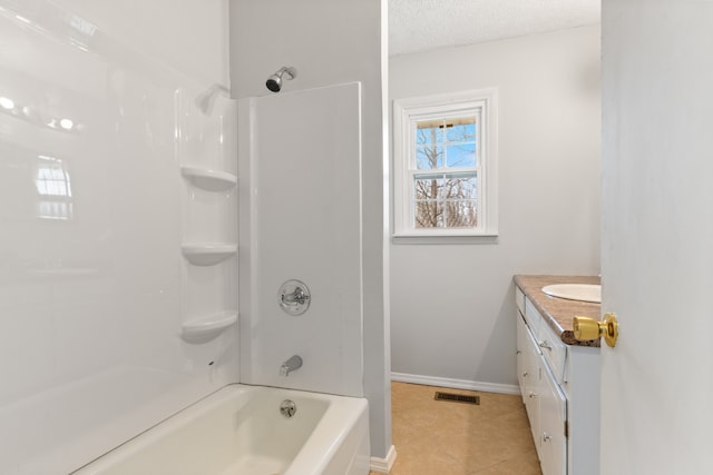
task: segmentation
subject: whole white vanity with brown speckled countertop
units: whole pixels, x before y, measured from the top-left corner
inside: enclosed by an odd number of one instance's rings
[[[599,278],[515,276],[518,383],[543,475],[598,475],[599,340],[578,342],[572,320],[600,305],[543,291],[560,284]]]

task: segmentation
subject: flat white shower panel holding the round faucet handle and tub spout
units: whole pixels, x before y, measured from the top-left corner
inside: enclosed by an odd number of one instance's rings
[[[360,93],[348,83],[241,101],[243,383],[363,395]],[[279,305],[289,279],[312,294],[303,315]],[[293,355],[302,368],[281,376]]]

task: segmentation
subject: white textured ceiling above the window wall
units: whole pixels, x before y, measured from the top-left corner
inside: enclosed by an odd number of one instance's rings
[[[599,22],[600,0],[389,0],[389,56]]]

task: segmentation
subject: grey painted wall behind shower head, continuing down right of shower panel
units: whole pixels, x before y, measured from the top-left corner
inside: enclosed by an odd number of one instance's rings
[[[383,281],[382,2],[380,0],[233,0],[231,81],[238,97],[264,96],[282,66],[299,77],[284,89],[362,83],[362,246],[364,393],[372,455],[391,446],[388,321]]]

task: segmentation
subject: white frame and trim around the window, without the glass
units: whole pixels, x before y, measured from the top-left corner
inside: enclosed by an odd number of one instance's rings
[[[417,228],[414,225],[413,175],[416,125],[431,119],[476,116],[478,122],[478,226],[471,228]],[[497,237],[498,154],[497,89],[479,89],[439,96],[399,99],[393,102],[393,237]],[[476,168],[463,168],[462,171]],[[438,169],[433,170],[438,172]]]

